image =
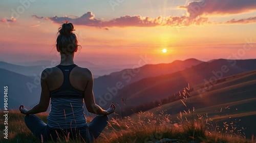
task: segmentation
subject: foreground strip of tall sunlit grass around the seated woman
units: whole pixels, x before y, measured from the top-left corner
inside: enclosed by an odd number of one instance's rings
[[[249,143],[254,142],[254,138],[246,140],[242,134],[232,134],[230,132],[216,133],[208,131],[205,127],[207,124],[204,119],[198,126],[192,126],[191,124],[176,124],[170,119],[169,115],[162,113],[160,118],[155,118],[157,115],[152,113],[141,112],[138,113],[139,120],[133,120],[130,117],[126,117],[122,120],[111,119],[108,126],[103,130],[96,142],[114,143],[114,142],[157,142],[159,140],[170,140],[172,142],[233,142],[233,143]],[[142,116],[145,116],[144,118]],[[3,113],[0,113],[3,116]],[[39,113],[38,116],[47,122],[47,114]],[[92,118],[87,118],[88,123]],[[1,123],[3,119],[1,118]],[[28,130],[24,123],[24,115],[18,111],[12,111],[9,113],[8,120],[9,135],[8,139],[4,138],[2,129],[4,125],[1,124],[0,141],[3,143],[15,142],[15,143],[39,143],[40,141],[35,138]],[[206,130],[205,130],[206,129]],[[71,140],[59,138],[58,142],[71,142],[78,143],[83,142],[79,139]],[[51,143],[51,141],[50,141]]]

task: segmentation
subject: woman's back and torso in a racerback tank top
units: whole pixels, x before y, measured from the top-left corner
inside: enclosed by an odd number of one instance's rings
[[[58,65],[47,77],[51,111],[47,125],[53,129],[80,128],[87,125],[83,112],[87,75],[75,64]]]

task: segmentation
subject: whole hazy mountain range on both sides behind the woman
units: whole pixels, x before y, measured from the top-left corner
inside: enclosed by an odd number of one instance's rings
[[[179,92],[187,83],[195,90],[204,85],[207,87],[209,85],[205,81],[209,81],[211,77],[220,80],[221,77],[252,71],[256,69],[255,63],[256,60],[219,59],[202,62],[188,59],[169,64],[144,65],[138,69],[123,69],[99,76],[94,79],[93,90],[96,103],[103,108],[107,108],[111,102],[126,108],[166,98]],[[2,73],[0,85],[2,87],[9,86],[9,105],[11,108],[17,108],[20,104],[33,106],[39,101],[41,90],[40,85],[37,84],[39,76],[26,76],[17,73],[22,71],[24,67],[34,67],[34,65],[18,66],[0,63]],[[17,69],[15,70],[15,68]],[[219,71],[223,69],[225,73],[220,73]],[[129,82],[127,82],[128,80]],[[115,90],[115,88],[119,89]],[[100,103],[102,100],[105,100],[104,104]],[[2,101],[1,98],[0,102]]]

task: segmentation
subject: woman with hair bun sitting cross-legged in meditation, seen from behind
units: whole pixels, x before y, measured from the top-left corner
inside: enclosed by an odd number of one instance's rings
[[[114,104],[108,110],[95,104],[92,72],[73,61],[79,46],[73,31],[73,24],[68,22],[58,30],[56,48],[61,61],[56,67],[42,71],[39,103],[30,110],[23,105],[19,107],[26,115],[27,127],[41,141],[79,137],[83,142],[93,142],[108,124],[107,115],[115,110]],[[34,114],[45,112],[50,99],[51,111],[45,124]],[[98,115],[89,124],[84,116],[83,101],[89,112]]]

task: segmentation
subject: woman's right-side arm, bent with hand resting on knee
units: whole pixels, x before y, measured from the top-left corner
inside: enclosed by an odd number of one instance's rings
[[[108,110],[103,110],[99,105],[95,103],[94,94],[93,94],[93,75],[89,69],[86,69],[88,81],[86,85],[86,90],[84,91],[84,103],[86,103],[86,108],[89,112],[95,113],[97,115],[110,115],[114,112],[113,108]]]

